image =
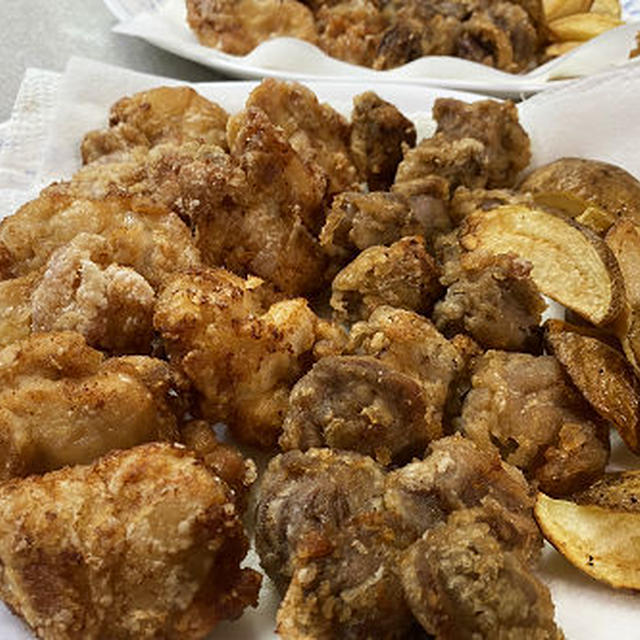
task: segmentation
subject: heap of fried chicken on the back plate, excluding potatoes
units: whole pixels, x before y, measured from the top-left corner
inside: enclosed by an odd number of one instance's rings
[[[510,73],[540,64],[542,0],[186,0],[199,41],[245,55],[277,36],[374,69],[454,56]]]

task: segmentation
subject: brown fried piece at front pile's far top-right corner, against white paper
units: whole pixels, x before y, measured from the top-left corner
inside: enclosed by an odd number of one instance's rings
[[[478,100],[471,104],[453,98],[438,98],[433,105],[438,123],[436,137],[473,138],[480,141],[487,157],[489,189],[513,187],[518,174],[531,160],[527,132],[518,122],[518,110],[511,101]],[[484,187],[485,185],[464,186]]]

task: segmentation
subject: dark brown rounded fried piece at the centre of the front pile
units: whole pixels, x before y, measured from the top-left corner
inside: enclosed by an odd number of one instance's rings
[[[291,391],[280,446],[331,447],[383,465],[421,454],[440,426],[420,383],[374,358],[323,358]]]

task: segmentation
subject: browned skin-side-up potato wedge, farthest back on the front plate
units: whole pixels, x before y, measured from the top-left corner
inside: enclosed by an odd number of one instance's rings
[[[598,232],[622,216],[640,223],[640,181],[607,162],[561,158],[530,173],[520,190]]]

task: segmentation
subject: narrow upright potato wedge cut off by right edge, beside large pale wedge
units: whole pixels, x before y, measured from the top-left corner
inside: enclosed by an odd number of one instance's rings
[[[640,226],[621,218],[605,238],[618,261],[626,292],[626,310],[616,323],[625,355],[640,374]]]

